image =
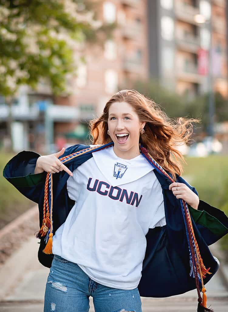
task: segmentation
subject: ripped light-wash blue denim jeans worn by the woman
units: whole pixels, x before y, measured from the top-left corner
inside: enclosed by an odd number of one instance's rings
[[[101,285],[76,263],[55,255],[46,283],[44,312],[88,312],[90,296],[95,312],[142,312],[137,287],[123,290]]]

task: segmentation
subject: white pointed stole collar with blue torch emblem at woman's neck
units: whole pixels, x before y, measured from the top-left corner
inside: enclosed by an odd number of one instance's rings
[[[113,146],[92,153],[97,167],[112,186],[118,186],[133,182],[154,168],[142,156],[132,158],[119,158],[113,150]]]

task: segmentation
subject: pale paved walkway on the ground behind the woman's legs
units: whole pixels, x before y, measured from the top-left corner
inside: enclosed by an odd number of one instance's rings
[[[2,300],[0,311],[43,311],[44,289],[49,269],[38,262],[38,247],[37,240],[34,237],[30,238],[0,269],[1,280],[4,281],[5,286],[0,290]],[[228,310],[226,286],[220,269],[206,285],[207,303],[216,312]],[[143,312],[195,312],[197,309],[196,290],[169,298],[142,297],[141,299]],[[90,307],[90,312],[94,312],[91,297]]]

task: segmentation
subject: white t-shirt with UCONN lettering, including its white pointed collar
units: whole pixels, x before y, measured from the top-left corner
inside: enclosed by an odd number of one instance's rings
[[[149,228],[163,226],[162,188],[140,154],[116,156],[113,147],[92,153],[67,180],[75,200],[53,236],[53,254],[105,286],[134,289],[141,279]]]

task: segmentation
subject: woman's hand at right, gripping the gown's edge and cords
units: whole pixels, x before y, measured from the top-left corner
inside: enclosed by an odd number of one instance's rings
[[[182,198],[188,205],[198,209],[199,197],[186,184],[174,182],[169,185],[169,189],[172,190],[176,198]]]

